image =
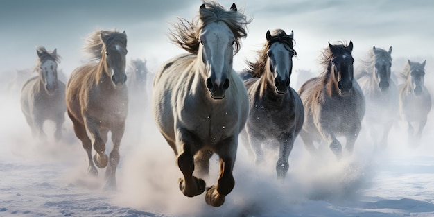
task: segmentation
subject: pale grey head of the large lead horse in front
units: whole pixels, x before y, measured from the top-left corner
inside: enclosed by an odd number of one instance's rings
[[[236,12],[235,4],[230,10]],[[208,11],[205,4],[199,9],[201,17],[206,17]],[[207,71],[206,85],[214,99],[225,98],[225,91],[229,88],[229,73],[232,71],[234,58],[234,44],[236,37],[225,21],[213,21],[205,24],[199,33],[198,55],[202,58]]]

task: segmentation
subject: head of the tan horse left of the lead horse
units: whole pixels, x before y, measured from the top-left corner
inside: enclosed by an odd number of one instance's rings
[[[125,64],[127,51],[127,35],[125,31],[119,34],[105,34],[101,31],[101,40],[105,46],[102,55],[105,60],[106,73],[112,78],[114,87],[122,87],[127,80]]]

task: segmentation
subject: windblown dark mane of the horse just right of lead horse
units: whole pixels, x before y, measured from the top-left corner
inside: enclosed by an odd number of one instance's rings
[[[247,61],[248,69],[246,69],[246,72],[251,73],[253,78],[260,78],[264,71],[266,71],[265,69],[267,67],[268,60],[267,51],[268,49],[270,49],[270,46],[275,42],[284,43],[295,52],[295,40],[293,39],[293,37],[286,35],[285,31],[282,29],[275,29],[274,31],[272,31],[270,40],[267,40],[266,44],[264,44],[263,46],[263,49],[258,52],[259,59],[257,60],[257,62]],[[295,52],[295,55],[297,55],[297,52]]]

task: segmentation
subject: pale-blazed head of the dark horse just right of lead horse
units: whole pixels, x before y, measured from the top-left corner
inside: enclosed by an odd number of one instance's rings
[[[273,35],[266,33],[269,48],[267,51],[270,71],[274,76],[276,92],[285,94],[290,84],[290,75],[293,71],[293,56],[297,52],[293,49],[294,32],[286,35],[283,30],[275,30]]]

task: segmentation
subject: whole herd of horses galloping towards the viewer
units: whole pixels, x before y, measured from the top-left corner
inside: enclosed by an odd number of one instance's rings
[[[408,60],[401,74],[406,82],[397,86],[391,79],[391,47],[385,51],[374,46],[361,69],[354,70],[353,43],[329,43],[322,51],[323,72],[295,91],[290,87],[292,58],[297,55],[293,31],[267,31],[258,60],[247,62],[243,72],[232,69],[250,21],[235,4],[225,9],[204,1],[196,19],[180,19],[170,34],[187,53],[167,60],[155,72],[150,107],[157,129],[175,153],[185,196],[206,191],[209,205],[223,205],[235,184],[238,135],[256,164],[264,162],[264,144],[279,150],[279,178],[288,172],[288,157],[299,135],[313,155],[319,153],[317,146],[328,145],[338,159],[351,155],[363,124],[369,126],[374,144],[387,146],[398,114],[407,121],[411,138],[421,137],[431,110],[431,96],[424,87],[425,62]],[[76,68],[66,85],[57,78],[56,49],[37,47],[39,76],[22,87],[21,109],[37,137],[46,137],[45,120],[54,121],[55,139],[62,137],[67,112],[86,150],[89,174],[98,175],[96,167],[107,167],[105,187],[116,189],[129,103],[148,101],[146,62],[131,62],[127,83],[125,31],[95,31],[87,42],[85,51],[92,61]],[[108,132],[113,147],[107,156]],[[345,151],[338,137],[345,137]],[[220,159],[220,174],[216,185],[206,187],[199,176],[209,173],[214,154]]]

